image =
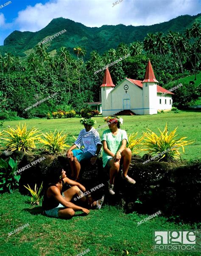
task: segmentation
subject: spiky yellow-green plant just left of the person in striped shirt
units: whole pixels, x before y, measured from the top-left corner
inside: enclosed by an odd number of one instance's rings
[[[40,138],[40,142],[44,145],[44,148],[49,153],[58,153],[65,149],[69,145],[65,143],[66,135],[61,135],[62,132],[54,132],[43,134],[44,139]]]

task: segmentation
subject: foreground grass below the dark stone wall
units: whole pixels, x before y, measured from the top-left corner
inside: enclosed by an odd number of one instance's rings
[[[94,255],[150,256],[167,255],[153,250],[153,231],[189,230],[195,224],[176,224],[157,216],[137,226],[148,215],[136,212],[124,214],[120,208],[104,205],[100,210],[91,210],[88,216],[76,212],[73,219],[49,218],[40,214],[41,206],[33,207],[30,197],[19,192],[1,196],[1,252],[7,255],[76,255],[90,249]],[[29,226],[8,237],[14,229],[29,223]],[[200,255],[199,253],[168,253],[168,255]]]

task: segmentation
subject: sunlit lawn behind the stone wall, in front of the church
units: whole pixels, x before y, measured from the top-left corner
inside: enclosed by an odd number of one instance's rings
[[[194,110],[181,111],[179,114],[175,114],[173,111],[168,113],[159,113],[157,115],[133,115],[133,116],[123,116],[123,126],[127,133],[137,132],[138,135],[142,135],[142,131],[146,129],[151,129],[154,132],[158,132],[159,129],[163,130],[165,128],[166,122],[168,123],[168,130],[172,131],[175,127],[178,127],[177,134],[178,138],[187,137],[187,140],[195,140],[194,143],[185,147],[185,153],[181,153],[181,157],[185,160],[192,160],[200,158],[201,150],[201,118],[200,113]],[[103,117],[95,117],[97,124],[95,128],[101,126],[102,129],[99,130],[100,136],[105,129],[108,127],[104,126]],[[29,128],[35,126],[42,130],[42,132],[52,132],[57,128],[59,131],[63,130],[63,133],[67,135],[67,144],[73,143],[74,138],[78,137],[78,134],[83,125],[79,123],[80,118],[61,118],[61,119],[27,119],[27,120],[15,120],[15,121],[5,121],[1,129],[6,129],[8,125],[11,127],[16,127],[19,122],[21,124],[26,123]],[[40,147],[38,145],[38,147]],[[145,153],[145,152],[144,152]],[[140,155],[143,155],[141,153]]]

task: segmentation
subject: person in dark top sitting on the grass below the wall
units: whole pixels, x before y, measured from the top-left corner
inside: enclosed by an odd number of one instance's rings
[[[80,183],[67,178],[66,172],[58,162],[56,165],[52,164],[48,169],[48,180],[50,183],[45,189],[42,201],[42,208],[47,216],[68,219],[75,215],[75,211],[83,211],[85,214],[89,214],[87,208],[101,208],[103,199],[94,202],[92,197],[88,195],[87,200],[83,195],[86,188]],[[86,205],[87,208],[71,203],[73,197],[76,196],[80,198],[77,202],[80,205]]]

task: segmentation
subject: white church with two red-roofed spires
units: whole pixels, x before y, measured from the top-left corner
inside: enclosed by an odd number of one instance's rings
[[[143,81],[125,78],[117,86],[112,82],[109,69],[105,71],[101,88],[101,101],[89,102],[92,109],[108,115],[154,115],[157,110],[171,110],[172,94],[159,86],[150,60]],[[162,93],[167,93],[162,96]],[[101,106],[102,105],[102,106]],[[101,111],[102,110],[102,111]]]

